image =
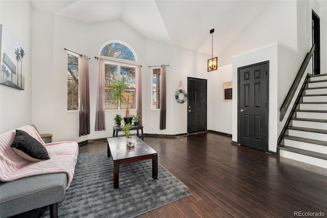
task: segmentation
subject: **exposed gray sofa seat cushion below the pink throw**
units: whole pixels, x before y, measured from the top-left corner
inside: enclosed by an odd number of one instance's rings
[[[60,172],[0,183],[0,217],[62,201],[67,182],[67,174]]]

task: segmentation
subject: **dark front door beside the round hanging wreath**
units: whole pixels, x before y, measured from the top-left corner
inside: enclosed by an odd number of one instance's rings
[[[206,79],[188,77],[188,133],[206,131]]]

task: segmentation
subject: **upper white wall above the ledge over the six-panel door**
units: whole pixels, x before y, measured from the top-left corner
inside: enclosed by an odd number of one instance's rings
[[[218,56],[221,66],[232,56],[280,41],[297,50],[296,1],[270,1]],[[216,42],[216,45],[219,42]]]

